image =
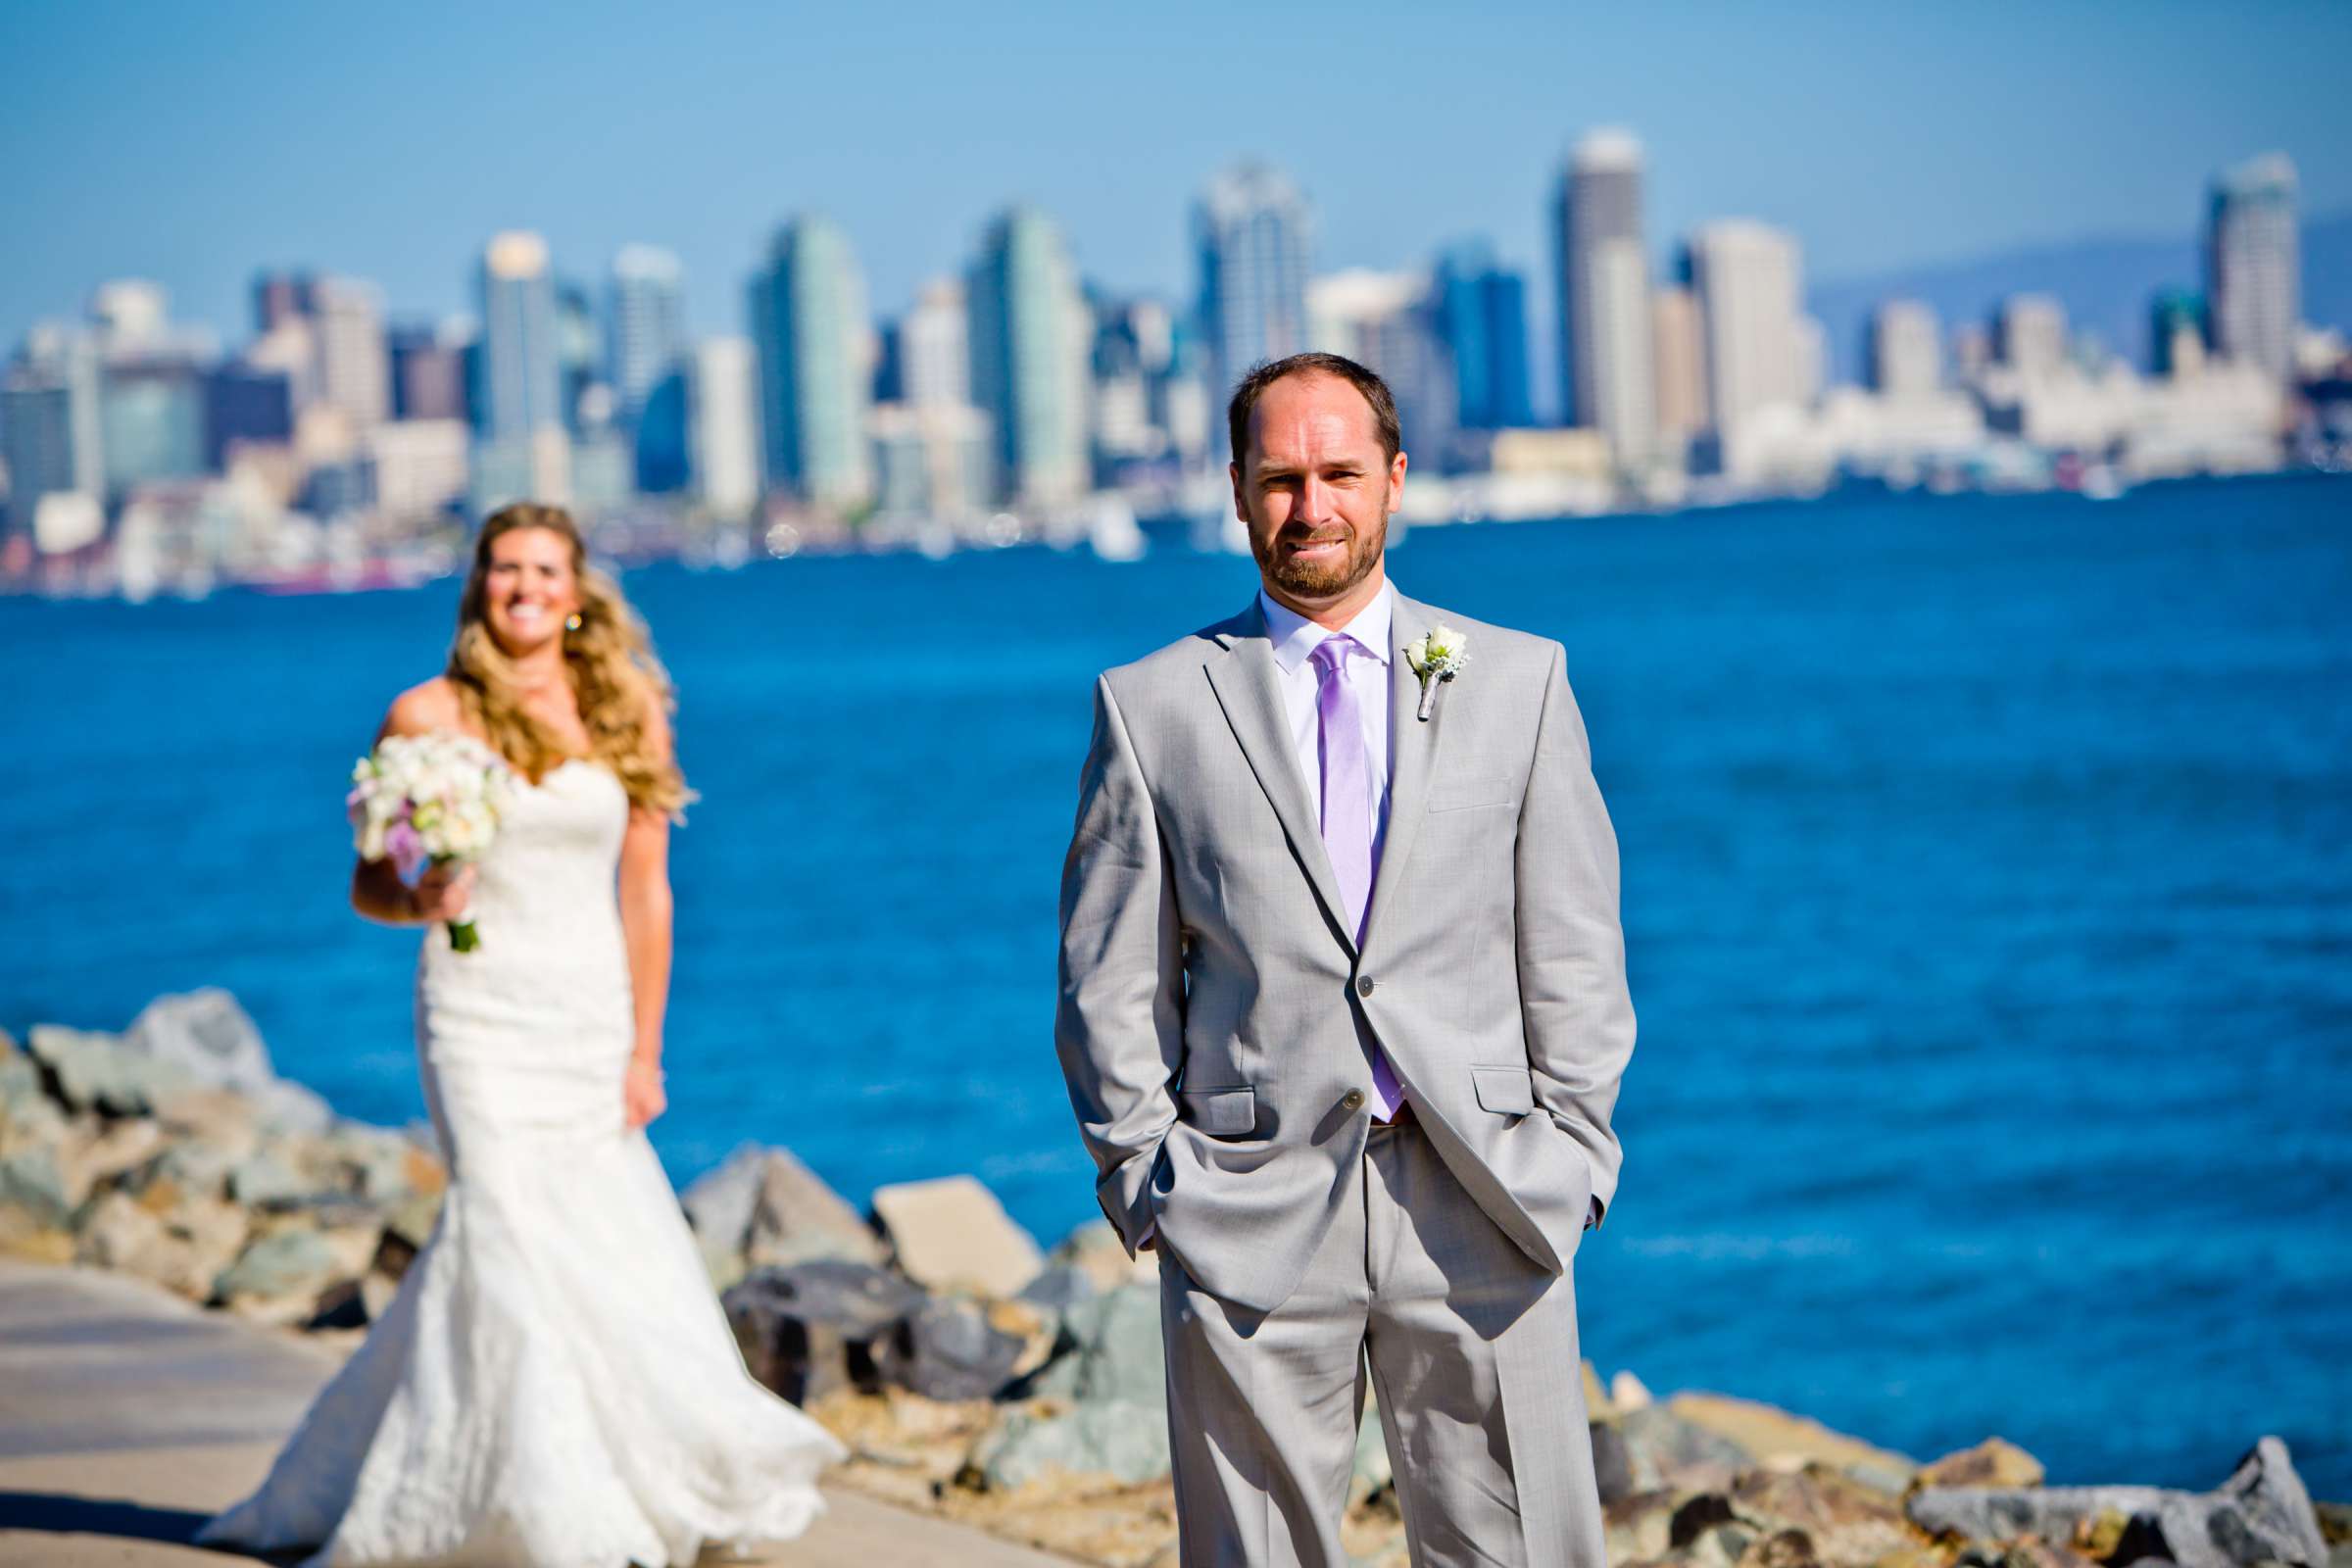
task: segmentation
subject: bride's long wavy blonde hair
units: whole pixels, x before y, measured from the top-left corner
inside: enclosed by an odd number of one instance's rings
[[[633,806],[682,820],[694,792],[677,762],[656,750],[652,724],[656,712],[677,708],[670,675],[621,588],[588,564],[588,545],[562,508],[517,501],[482,522],[456,609],[456,639],[449,644],[447,677],[459,705],[499,755],[529,778],[546,778],[574,757],[562,736],[522,708],[515,665],[489,630],[489,548],[520,529],[546,529],[572,548],[581,623],[564,628],[564,672],[588,726],[588,755],[614,771]]]

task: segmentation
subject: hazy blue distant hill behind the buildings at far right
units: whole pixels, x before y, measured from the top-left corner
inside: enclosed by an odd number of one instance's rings
[[[2147,301],[2157,289],[2204,287],[2197,240],[2077,240],[1973,261],[1842,277],[1813,284],[1813,315],[1830,329],[1837,378],[1860,381],[1870,310],[1884,299],[1924,299],[1943,317],[1990,322],[2004,294],[2056,294],[2077,329],[2147,364]],[[2352,331],[2352,212],[2303,226],[2303,320]]]

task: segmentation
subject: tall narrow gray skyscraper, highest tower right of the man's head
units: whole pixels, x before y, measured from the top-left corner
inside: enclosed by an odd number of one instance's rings
[[[1566,423],[1599,430],[1621,465],[1639,465],[1658,407],[1639,141],[1602,129],[1576,143],[1552,202],[1552,240]]]

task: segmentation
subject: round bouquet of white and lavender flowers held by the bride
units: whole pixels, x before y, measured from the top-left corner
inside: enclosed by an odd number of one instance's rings
[[[426,865],[475,860],[499,832],[513,773],[470,736],[386,736],[350,769],[353,842],[367,860],[390,860],[414,879]],[[449,922],[449,945],[473,952],[470,919]]]

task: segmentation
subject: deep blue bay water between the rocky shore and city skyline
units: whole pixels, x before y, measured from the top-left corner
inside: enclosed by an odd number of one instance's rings
[[[1392,571],[1559,637],[1642,1044],[1578,1262],[1604,1375],[2056,1481],[2352,1497],[2352,487],[1832,498],[1425,529]],[[1230,557],[628,578],[703,802],[675,839],[691,1178],[974,1171],[1091,1218],[1051,1053],[1089,677]],[[343,905],[343,776],[454,583],[0,602],[0,1023],[228,985],[285,1072],[421,1114],[414,936]],[[489,933],[496,940],[496,933]]]

